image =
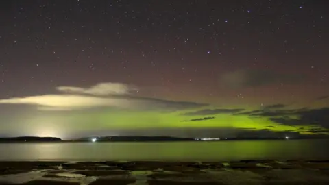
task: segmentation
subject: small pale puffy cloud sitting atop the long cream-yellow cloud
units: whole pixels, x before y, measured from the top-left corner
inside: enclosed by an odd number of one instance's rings
[[[120,83],[99,83],[90,88],[81,88],[75,86],[59,86],[56,88],[62,93],[86,94],[86,95],[125,95],[136,87]]]

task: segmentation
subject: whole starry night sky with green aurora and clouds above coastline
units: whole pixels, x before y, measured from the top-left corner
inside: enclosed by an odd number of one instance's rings
[[[1,1],[0,136],[328,134],[327,1]]]

